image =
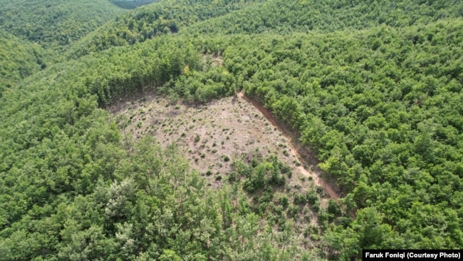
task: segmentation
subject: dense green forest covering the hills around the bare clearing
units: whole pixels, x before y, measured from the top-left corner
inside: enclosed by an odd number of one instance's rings
[[[0,260],[358,260],[365,248],[463,247],[461,1],[128,9],[2,3]],[[209,188],[175,144],[132,140],[105,110],[132,93],[197,105],[237,91],[297,133],[339,203],[321,204],[320,187],[286,189],[291,169],[258,152],[232,158],[222,188]]]

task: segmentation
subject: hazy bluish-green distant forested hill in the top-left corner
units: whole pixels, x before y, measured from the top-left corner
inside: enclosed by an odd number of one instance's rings
[[[2,29],[45,48],[63,48],[124,11],[107,0],[1,0],[0,5]]]

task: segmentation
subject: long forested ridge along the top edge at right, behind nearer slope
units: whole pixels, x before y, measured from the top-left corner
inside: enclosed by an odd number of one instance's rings
[[[278,11],[276,11],[278,10]],[[463,16],[461,1],[265,1],[195,25],[199,34],[288,34],[402,28]],[[252,17],[252,19],[250,19]]]

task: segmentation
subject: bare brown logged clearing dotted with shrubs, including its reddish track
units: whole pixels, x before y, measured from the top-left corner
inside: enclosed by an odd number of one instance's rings
[[[220,188],[227,180],[234,159],[276,155],[293,170],[287,189],[305,192],[316,185],[325,190],[323,203],[339,198],[333,185],[321,178],[316,160],[301,153],[296,138],[279,126],[269,111],[243,93],[202,106],[172,103],[145,93],[137,101],[116,103],[110,111],[118,122],[125,123],[119,124],[124,135],[135,139],[152,135],[163,148],[176,143],[190,165],[214,188]]]

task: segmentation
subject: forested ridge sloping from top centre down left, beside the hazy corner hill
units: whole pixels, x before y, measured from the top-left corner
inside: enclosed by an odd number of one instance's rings
[[[200,21],[209,21],[246,6],[254,8],[254,3],[255,0],[162,0],[158,4],[142,6],[118,16],[114,21],[88,34],[66,56],[77,58],[111,46],[132,45],[162,34],[175,34]]]

